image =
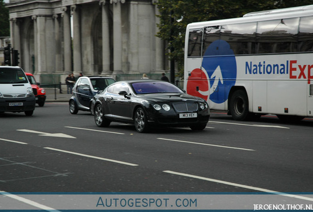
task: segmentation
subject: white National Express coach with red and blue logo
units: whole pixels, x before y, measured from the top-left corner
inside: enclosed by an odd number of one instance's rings
[[[313,5],[192,23],[185,42],[184,89],[211,109],[313,117]]]

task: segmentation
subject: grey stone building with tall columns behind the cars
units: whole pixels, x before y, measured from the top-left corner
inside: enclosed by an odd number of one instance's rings
[[[10,0],[11,44],[37,76],[161,73],[156,0]],[[37,78],[40,79],[40,78]],[[63,82],[63,80],[62,80]]]

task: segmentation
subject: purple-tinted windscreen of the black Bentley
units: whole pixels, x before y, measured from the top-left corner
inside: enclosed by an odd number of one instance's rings
[[[181,89],[169,82],[135,82],[131,84],[136,94],[151,93],[184,93]]]

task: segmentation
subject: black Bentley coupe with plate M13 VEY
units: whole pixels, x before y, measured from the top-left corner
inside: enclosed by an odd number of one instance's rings
[[[205,129],[210,108],[204,99],[186,94],[176,85],[152,79],[115,82],[93,98],[98,127],[111,122],[134,123],[138,132],[153,125]]]

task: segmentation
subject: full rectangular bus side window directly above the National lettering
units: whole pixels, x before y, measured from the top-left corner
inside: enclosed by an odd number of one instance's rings
[[[260,21],[256,29],[256,53],[297,51],[299,18]]]

